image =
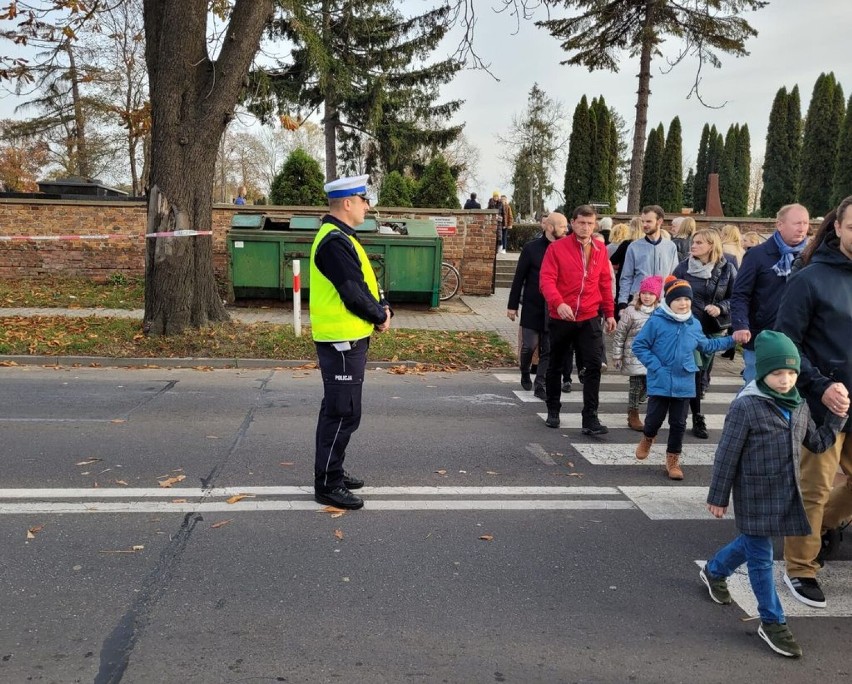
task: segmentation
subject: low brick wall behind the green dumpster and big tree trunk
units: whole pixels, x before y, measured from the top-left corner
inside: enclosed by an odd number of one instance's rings
[[[213,207],[213,267],[227,281],[226,234],[236,212],[321,215],[316,207]],[[444,260],[462,275],[462,291],[491,294],[494,280],[496,212],[382,208],[382,218],[456,216],[456,234],[445,236]],[[113,273],[145,273],[146,207],[142,202],[0,199],[0,236],[109,236],[96,240],[0,240],[0,278],[45,275],[106,280]],[[196,238],[180,238],[196,239]]]

